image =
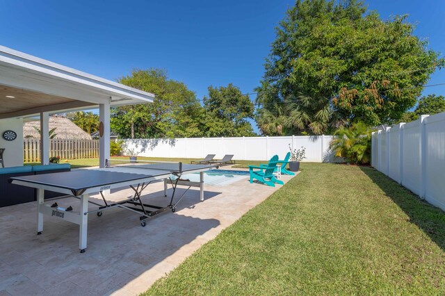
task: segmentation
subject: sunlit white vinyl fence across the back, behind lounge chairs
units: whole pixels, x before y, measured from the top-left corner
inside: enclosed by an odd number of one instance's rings
[[[289,145],[294,149],[306,148],[306,159],[310,162],[332,162],[329,149],[331,135],[288,136],[288,137],[238,137],[238,138],[178,138],[178,139],[135,139],[124,140],[124,154],[133,151],[138,156],[204,158],[216,154],[234,154],[235,160],[267,161],[277,154],[284,158]]]

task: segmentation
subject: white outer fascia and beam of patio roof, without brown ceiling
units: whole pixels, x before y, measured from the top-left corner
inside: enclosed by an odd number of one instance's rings
[[[0,85],[90,104],[151,103],[154,94],[0,45]]]

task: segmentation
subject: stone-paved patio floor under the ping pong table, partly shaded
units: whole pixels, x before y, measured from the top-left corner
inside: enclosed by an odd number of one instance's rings
[[[291,177],[282,176],[282,181]],[[37,236],[35,203],[0,208],[0,295],[137,295],[281,187],[248,179],[206,186],[204,202],[199,190],[191,189],[176,213],[158,215],[146,227],[138,215],[118,208],[102,217],[89,215],[84,254],[78,249],[77,225],[45,216],[44,231]],[[131,192],[121,190],[108,199],[122,200]],[[161,182],[145,192],[143,199],[151,204],[168,203]],[[72,198],[57,202],[74,210],[79,203]]]

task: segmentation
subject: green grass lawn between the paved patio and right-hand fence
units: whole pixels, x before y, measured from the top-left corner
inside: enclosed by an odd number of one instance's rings
[[[303,163],[146,295],[442,294],[444,248],[444,212],[380,172]]]

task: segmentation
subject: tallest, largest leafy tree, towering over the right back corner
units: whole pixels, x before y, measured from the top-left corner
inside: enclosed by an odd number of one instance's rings
[[[296,1],[257,88],[259,128],[320,134],[400,119],[443,63],[413,30],[405,16],[385,22],[357,0]]]

